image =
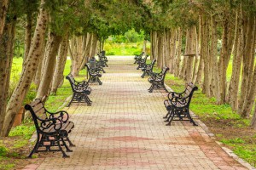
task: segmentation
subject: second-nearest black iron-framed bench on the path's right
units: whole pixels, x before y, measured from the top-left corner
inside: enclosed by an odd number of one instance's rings
[[[148,88],[149,93],[152,93],[155,87],[164,88],[166,92],[168,92],[165,86],[165,77],[167,71],[169,71],[169,68],[165,66],[160,73],[152,73],[152,76],[148,78],[148,82],[151,83],[151,87]]]

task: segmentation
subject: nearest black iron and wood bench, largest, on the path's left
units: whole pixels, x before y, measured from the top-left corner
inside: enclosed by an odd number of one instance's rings
[[[68,138],[74,123],[68,121],[67,111],[51,113],[45,109],[40,99],[35,99],[31,104],[25,105],[25,109],[32,114],[38,136],[37,143],[28,157],[32,158],[33,153],[43,151],[61,151],[63,157],[69,157],[61,148],[64,145],[67,152],[72,152],[73,150],[68,148],[66,142],[69,146],[75,146]]]

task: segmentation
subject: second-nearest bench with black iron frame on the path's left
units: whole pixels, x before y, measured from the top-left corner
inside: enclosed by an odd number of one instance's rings
[[[91,100],[88,95],[91,93],[91,88],[88,87],[88,82],[77,82],[72,74],[67,75],[66,79],[70,82],[73,95],[72,99],[68,103],[67,107],[71,105],[71,103],[87,103],[87,105],[91,105]]]

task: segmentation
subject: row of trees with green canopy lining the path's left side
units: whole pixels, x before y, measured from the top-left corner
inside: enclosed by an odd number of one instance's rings
[[[123,34],[140,23],[135,3],[98,0],[0,0],[0,135],[8,136],[32,83],[45,101],[63,82],[67,53],[74,76],[102,50],[110,35]],[[24,24],[26,23],[26,24]],[[22,27],[22,25],[25,25]],[[23,29],[24,57],[20,80],[9,93],[15,31]],[[99,42],[99,43],[98,43]]]

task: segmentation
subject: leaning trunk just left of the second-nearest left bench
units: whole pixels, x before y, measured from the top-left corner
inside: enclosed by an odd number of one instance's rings
[[[68,51],[68,34],[66,34],[63,37],[62,42],[60,44],[59,54],[57,56],[56,65],[55,65],[55,73],[53,76],[53,82],[51,86],[51,92],[50,92],[51,94],[56,94],[57,88],[59,88],[64,81],[63,72],[64,72],[65,64],[67,61],[67,51]]]

